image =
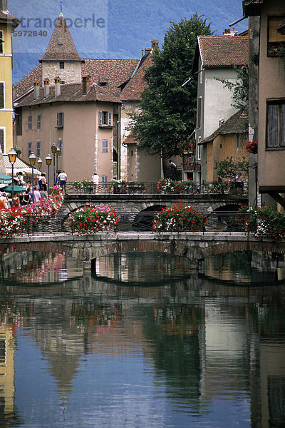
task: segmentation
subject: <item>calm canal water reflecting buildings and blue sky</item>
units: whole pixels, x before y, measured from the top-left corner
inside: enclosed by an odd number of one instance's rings
[[[0,427],[285,427],[284,260],[1,262]]]

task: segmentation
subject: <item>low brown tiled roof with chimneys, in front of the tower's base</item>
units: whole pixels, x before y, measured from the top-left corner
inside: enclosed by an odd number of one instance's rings
[[[19,103],[15,103],[15,107],[36,106],[46,103],[63,103],[63,102],[88,102],[88,101],[104,101],[108,103],[120,103],[120,100],[95,83],[90,86],[87,93],[83,93],[82,83],[71,83],[69,85],[61,85],[61,93],[55,96],[55,87],[51,86],[49,96],[44,97],[43,88],[40,88],[40,96],[35,100],[33,91],[23,98]]]

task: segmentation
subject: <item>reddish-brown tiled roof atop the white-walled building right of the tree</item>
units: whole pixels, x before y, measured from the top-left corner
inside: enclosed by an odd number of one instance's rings
[[[244,36],[198,36],[204,67],[227,67],[248,63],[249,39]]]

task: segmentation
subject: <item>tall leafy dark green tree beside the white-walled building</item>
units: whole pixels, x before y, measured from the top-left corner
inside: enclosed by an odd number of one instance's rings
[[[151,155],[180,154],[195,128],[197,78],[191,75],[197,36],[212,34],[207,19],[195,13],[165,33],[162,50],[155,49],[145,78],[150,82],[142,93],[140,113],[130,113],[129,127],[140,147]]]

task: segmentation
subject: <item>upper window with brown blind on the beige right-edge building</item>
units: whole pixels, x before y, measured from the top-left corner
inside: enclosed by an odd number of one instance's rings
[[[284,56],[281,53],[285,48],[285,34],[277,31],[279,25],[284,21],[285,15],[269,16],[267,31],[267,54],[268,56]]]

